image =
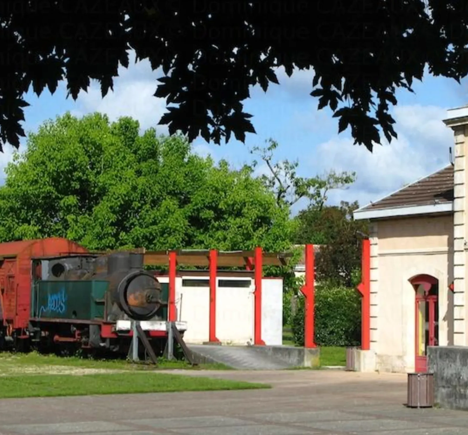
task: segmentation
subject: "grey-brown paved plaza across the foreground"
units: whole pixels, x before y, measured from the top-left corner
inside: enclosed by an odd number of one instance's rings
[[[265,382],[273,389],[2,399],[0,434],[468,433],[468,412],[403,406],[405,375],[335,370],[190,372],[201,375]]]

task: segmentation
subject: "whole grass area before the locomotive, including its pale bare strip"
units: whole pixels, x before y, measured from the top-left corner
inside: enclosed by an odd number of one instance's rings
[[[226,368],[222,364],[202,364],[198,370]],[[124,360],[0,353],[0,398],[270,388],[265,384],[172,375],[161,373],[161,369],[192,367],[181,361],[161,360],[156,368]]]

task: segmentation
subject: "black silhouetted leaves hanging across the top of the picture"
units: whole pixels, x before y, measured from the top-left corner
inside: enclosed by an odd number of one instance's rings
[[[397,137],[389,105],[425,65],[467,75],[467,11],[461,0],[2,0],[0,140],[19,146],[31,86],[66,80],[76,99],[98,80],[104,96],[134,50],[162,70],[154,95],[171,134],[243,141],[250,88],[278,83],[278,67],[308,69],[319,108],[372,151],[379,130]]]

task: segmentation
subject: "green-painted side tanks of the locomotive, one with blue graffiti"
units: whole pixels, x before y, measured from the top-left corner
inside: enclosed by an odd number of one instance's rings
[[[104,320],[108,288],[107,281],[36,281],[31,292],[31,317]],[[168,301],[168,293],[168,283],[161,283],[161,301]],[[162,306],[155,317],[165,320],[167,315],[167,306]]]

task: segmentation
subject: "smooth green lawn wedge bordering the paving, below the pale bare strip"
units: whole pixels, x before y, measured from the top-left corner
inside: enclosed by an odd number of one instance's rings
[[[270,388],[270,385],[152,372],[81,376],[23,374],[0,377],[0,398],[2,399],[255,388]]]

